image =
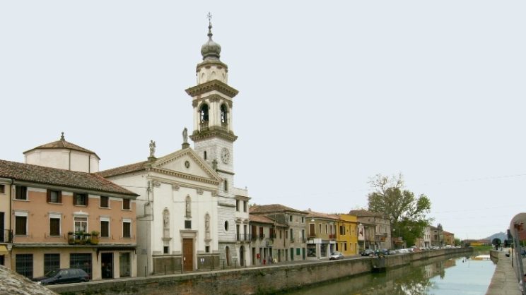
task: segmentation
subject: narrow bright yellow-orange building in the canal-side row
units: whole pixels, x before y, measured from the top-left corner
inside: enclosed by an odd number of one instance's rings
[[[358,254],[358,218],[355,215],[340,214],[337,221],[337,244],[339,251],[348,255]]]

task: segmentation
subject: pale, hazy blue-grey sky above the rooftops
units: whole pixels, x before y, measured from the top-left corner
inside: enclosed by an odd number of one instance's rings
[[[100,169],[180,149],[208,20],[251,203],[348,212],[404,175],[460,239],[524,211],[524,1],[0,1],[0,159],[58,140]]]

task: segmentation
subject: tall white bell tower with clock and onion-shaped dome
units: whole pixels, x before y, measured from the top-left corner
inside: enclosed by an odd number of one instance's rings
[[[201,47],[203,61],[197,64],[197,85],[186,90],[192,97],[194,130],[189,136],[194,150],[221,176],[218,186],[218,251],[227,264],[236,258],[234,150],[238,138],[232,124],[233,97],[238,90],[228,86],[228,66],[219,60],[221,46],[212,40],[209,13],[208,41]]]

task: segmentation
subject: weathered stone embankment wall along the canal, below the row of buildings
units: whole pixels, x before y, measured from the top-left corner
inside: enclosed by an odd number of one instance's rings
[[[471,248],[452,248],[391,255],[385,258],[385,266],[389,271],[390,267],[409,265],[417,260],[471,251]],[[317,263],[217,270],[187,275],[133,277],[50,286],[49,289],[60,294],[273,294],[276,291],[371,272],[374,259],[377,258],[322,260]]]

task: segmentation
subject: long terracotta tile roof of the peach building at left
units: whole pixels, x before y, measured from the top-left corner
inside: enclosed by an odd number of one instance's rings
[[[94,173],[9,162],[2,159],[0,159],[0,177],[55,186],[82,188],[103,193],[137,196],[136,193],[117,186],[117,184]]]

